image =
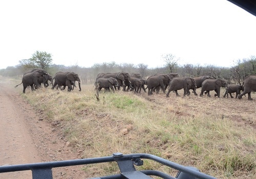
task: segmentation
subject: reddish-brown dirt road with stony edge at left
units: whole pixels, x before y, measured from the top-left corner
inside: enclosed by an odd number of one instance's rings
[[[36,112],[20,90],[0,81],[0,165],[78,159],[54,126]],[[81,166],[53,169],[54,178],[83,178]],[[31,171],[0,173],[0,178],[32,178]]]

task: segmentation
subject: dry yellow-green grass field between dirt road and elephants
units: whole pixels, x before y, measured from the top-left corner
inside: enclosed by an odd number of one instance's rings
[[[256,178],[255,94],[248,101],[119,91],[101,92],[97,101],[93,85],[82,85],[81,92],[41,88],[22,95],[49,122],[59,122],[59,132],[74,150],[83,151],[81,158],[150,153],[217,178]],[[147,160],[141,168],[176,174]],[[118,167],[97,164],[83,170],[95,177],[118,172]]]

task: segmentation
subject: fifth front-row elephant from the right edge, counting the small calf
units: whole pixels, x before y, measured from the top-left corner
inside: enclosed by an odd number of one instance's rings
[[[165,86],[169,84],[172,78],[169,77],[168,74],[158,74],[153,75],[147,78],[146,85],[148,88],[147,95],[153,95],[153,91],[156,87],[160,86],[162,88],[163,93],[165,93]]]

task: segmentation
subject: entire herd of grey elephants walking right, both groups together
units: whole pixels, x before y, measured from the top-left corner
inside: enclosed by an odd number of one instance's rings
[[[75,81],[77,81],[79,91],[81,91],[80,78],[78,74],[74,72],[57,72],[54,76],[51,76],[45,70],[33,69],[24,73],[22,82],[20,84],[23,84],[23,93],[25,93],[28,86],[31,86],[32,91],[39,88],[41,83],[44,83],[44,86],[48,87],[48,81],[53,84],[52,89],[56,87],[63,90],[66,88],[66,86],[68,86],[69,92],[76,87]],[[184,90],[183,96],[190,95],[190,89],[192,89],[192,93],[194,93],[194,95],[198,95],[196,93],[196,89],[201,87],[200,96],[203,96],[203,94],[210,96],[209,92],[215,91],[215,96],[218,96],[218,98],[220,98],[220,88],[225,87],[226,91],[223,96],[224,98],[226,96],[228,97],[228,94],[231,98],[233,98],[232,93],[236,93],[236,98],[238,99],[241,99],[243,95],[248,94],[248,100],[252,100],[251,92],[256,91],[256,75],[248,75],[244,79],[243,85],[228,85],[226,80],[214,79],[210,76],[192,78],[180,77],[177,73],[169,73],[155,74],[145,80],[142,79],[140,73],[133,73],[131,75],[126,72],[100,73],[96,78],[95,85],[98,91],[101,91],[101,89],[104,88],[107,91],[110,91],[111,89],[113,93],[116,90],[120,90],[121,87],[123,88],[123,91],[134,91],[135,93],[139,94],[141,92],[141,88],[144,92],[146,92],[147,89],[147,95],[159,93],[161,89],[163,93],[166,94],[166,97],[169,97],[169,93],[172,91],[176,93],[176,96],[179,96],[178,90],[180,89]],[[166,93],[167,88],[168,92]]]

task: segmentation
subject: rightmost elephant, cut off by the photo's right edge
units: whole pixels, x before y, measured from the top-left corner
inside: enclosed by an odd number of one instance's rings
[[[238,95],[238,99],[241,99],[243,95],[248,93],[248,100],[252,100],[251,92],[256,91],[256,75],[248,75],[243,81],[244,91]]]

